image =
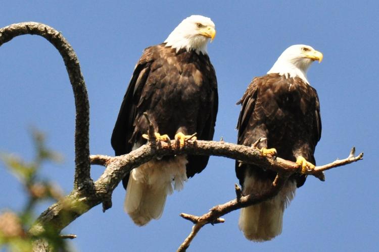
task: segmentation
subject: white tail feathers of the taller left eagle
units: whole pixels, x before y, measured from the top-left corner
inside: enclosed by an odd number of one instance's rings
[[[138,226],[162,216],[167,195],[180,191],[187,180],[186,156],[151,160],[130,172],[124,209]],[[173,188],[174,187],[174,188]]]

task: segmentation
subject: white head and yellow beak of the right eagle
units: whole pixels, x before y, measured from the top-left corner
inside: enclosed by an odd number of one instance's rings
[[[288,77],[299,77],[307,84],[307,70],[314,60],[322,61],[322,53],[309,45],[292,45],[276,60],[267,74],[277,73]]]

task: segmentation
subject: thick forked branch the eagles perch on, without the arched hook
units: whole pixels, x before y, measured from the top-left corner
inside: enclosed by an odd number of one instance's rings
[[[35,226],[35,229],[38,230],[38,228],[41,228],[44,224],[50,223],[58,230],[62,230],[69,223],[92,207],[102,203],[105,199],[109,200],[113,190],[132,168],[146,163],[157,156],[178,154],[223,156],[235,160],[241,160],[245,163],[253,163],[262,168],[271,169],[279,174],[283,174],[281,178],[275,180],[275,185],[271,188],[271,191],[266,192],[263,196],[243,196],[240,200],[233,200],[223,205],[216,206],[212,208],[208,214],[200,217],[199,223],[202,223],[203,220],[206,221],[206,223],[215,223],[217,218],[233,210],[274,197],[277,190],[282,185],[283,179],[294,172],[300,171],[300,167],[292,161],[281,158],[273,159],[263,157],[257,149],[243,145],[198,140],[193,144],[188,143],[182,149],[179,149],[175,147],[174,142],[175,141],[172,140],[170,145],[161,142],[154,147],[146,144],[128,154],[116,157],[91,155],[90,160],[92,164],[106,166],[104,173],[96,182],[94,182],[94,192],[87,194],[84,197],[75,191],[71,192],[70,195],[52,205],[39,216],[38,224]],[[349,158],[347,161],[340,160],[342,162],[335,163],[334,167],[352,163],[360,159],[362,159],[362,156],[353,159]],[[319,166],[316,166],[316,169],[318,169],[318,167]],[[307,174],[313,175],[312,171],[308,171]],[[203,225],[199,224],[198,227]]]

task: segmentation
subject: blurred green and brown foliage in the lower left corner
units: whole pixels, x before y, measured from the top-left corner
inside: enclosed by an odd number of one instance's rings
[[[38,235],[32,236],[28,233],[36,219],[37,204],[52,200],[59,201],[64,196],[57,184],[41,178],[38,174],[44,162],[61,162],[62,156],[46,148],[45,138],[41,132],[32,129],[31,135],[35,145],[33,161],[25,162],[14,154],[0,153],[0,160],[18,178],[27,196],[20,212],[0,209],[0,250],[32,251],[34,242],[44,239],[52,251],[70,251],[72,248],[67,239],[63,239],[52,226],[44,226],[44,231]]]

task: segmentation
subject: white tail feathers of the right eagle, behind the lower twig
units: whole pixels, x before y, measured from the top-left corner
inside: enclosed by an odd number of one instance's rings
[[[245,177],[244,194],[266,190],[270,181],[256,181],[254,177]],[[295,182],[287,182],[273,199],[241,209],[239,227],[245,237],[253,241],[271,240],[279,235],[283,225],[283,212],[294,198]]]

